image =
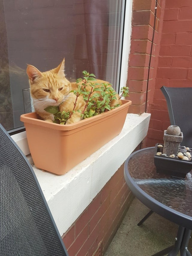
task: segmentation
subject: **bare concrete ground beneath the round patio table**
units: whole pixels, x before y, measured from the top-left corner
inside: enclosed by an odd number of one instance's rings
[[[135,198],[104,256],[150,256],[174,244],[178,226],[155,213],[137,226],[148,212]],[[191,240],[188,249],[192,253]]]

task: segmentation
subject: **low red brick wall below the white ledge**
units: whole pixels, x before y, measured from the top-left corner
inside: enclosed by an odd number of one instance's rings
[[[100,243],[103,252],[106,251],[133,199],[123,166],[63,234],[69,256],[92,256]]]

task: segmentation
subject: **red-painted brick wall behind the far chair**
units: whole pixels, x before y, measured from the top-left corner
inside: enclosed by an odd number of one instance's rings
[[[151,105],[147,146],[163,142],[170,125],[167,104],[160,90],[192,85],[192,1],[166,0],[155,92]]]

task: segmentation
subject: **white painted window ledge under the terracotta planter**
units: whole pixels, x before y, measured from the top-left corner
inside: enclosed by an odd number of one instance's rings
[[[118,136],[64,175],[33,166],[61,236],[147,135],[149,120],[148,113],[127,114]]]

